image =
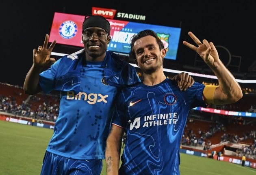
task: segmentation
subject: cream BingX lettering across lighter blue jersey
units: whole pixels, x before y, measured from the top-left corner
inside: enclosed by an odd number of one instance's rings
[[[85,100],[89,104],[93,105],[96,102],[104,102],[107,103],[106,98],[108,95],[103,96],[102,94],[86,94],[85,92],[79,92],[79,94],[75,95],[74,91],[67,91],[67,100]]]

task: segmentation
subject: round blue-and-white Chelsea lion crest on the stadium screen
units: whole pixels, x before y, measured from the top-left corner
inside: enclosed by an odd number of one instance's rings
[[[73,38],[77,33],[76,23],[73,21],[65,21],[59,28],[60,35],[65,39]]]

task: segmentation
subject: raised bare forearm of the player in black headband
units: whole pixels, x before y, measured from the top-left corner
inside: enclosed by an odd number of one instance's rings
[[[26,79],[24,81],[23,89],[25,94],[36,94],[41,91],[39,86],[39,73],[42,72],[42,68],[36,67],[34,64],[28,71]]]

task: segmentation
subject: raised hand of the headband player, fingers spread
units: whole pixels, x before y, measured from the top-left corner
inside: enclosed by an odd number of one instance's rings
[[[54,62],[56,62],[54,58],[50,58],[52,49],[55,46],[56,41],[54,40],[50,45],[50,47],[47,49],[48,40],[49,40],[49,35],[46,34],[43,47],[39,46],[38,49],[33,50],[33,62],[35,66],[39,66],[39,67],[50,66]]]

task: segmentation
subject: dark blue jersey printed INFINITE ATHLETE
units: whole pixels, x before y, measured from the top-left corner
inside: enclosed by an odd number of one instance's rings
[[[180,91],[165,79],[154,86],[142,82],[121,90],[112,124],[125,129],[121,175],[179,175],[180,141],[189,110],[202,106],[204,85]]]

